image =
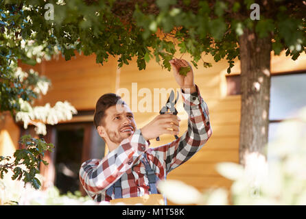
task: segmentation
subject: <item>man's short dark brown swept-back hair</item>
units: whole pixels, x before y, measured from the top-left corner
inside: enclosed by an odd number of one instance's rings
[[[124,103],[121,96],[118,96],[117,94],[108,93],[100,96],[95,105],[95,114],[93,115],[93,124],[95,125],[96,129],[99,125],[105,125],[104,116],[106,110],[116,104],[126,103]]]

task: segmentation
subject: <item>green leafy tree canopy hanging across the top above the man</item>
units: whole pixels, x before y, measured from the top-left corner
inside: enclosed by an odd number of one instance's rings
[[[11,65],[17,60],[36,64],[57,51],[66,60],[75,51],[94,53],[101,64],[112,55],[118,57],[119,66],[137,57],[139,70],[155,59],[170,70],[169,60],[178,48],[180,53],[191,55],[194,66],[199,61],[211,66],[202,60],[203,54],[213,55],[215,62],[226,58],[230,73],[239,58],[238,38],[245,28],[253,29],[259,37],[272,34],[276,54],[286,50],[286,55],[296,60],[306,49],[303,1],[256,1],[259,21],[250,19],[252,0],[49,1],[54,5],[54,20],[45,19],[46,1],[0,2],[1,78],[16,83],[5,91],[10,97],[1,96],[5,103],[15,104],[5,106],[8,110],[19,105],[14,96],[35,98],[30,90],[19,89],[21,81],[11,77]],[[7,89],[8,83],[1,89]],[[8,101],[11,99],[15,101]]]

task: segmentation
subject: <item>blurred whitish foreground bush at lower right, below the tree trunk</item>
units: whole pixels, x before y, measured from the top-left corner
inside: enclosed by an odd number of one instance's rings
[[[224,188],[201,193],[173,180],[161,181],[158,188],[180,205],[306,205],[306,107],[295,119],[279,125],[275,140],[266,146],[266,154],[268,162],[263,155],[248,154],[245,167],[229,162],[217,164],[217,172],[233,180],[230,194]]]

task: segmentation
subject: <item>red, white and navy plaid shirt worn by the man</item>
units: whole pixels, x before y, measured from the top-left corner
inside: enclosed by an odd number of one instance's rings
[[[198,90],[197,86],[196,88]],[[212,133],[207,104],[199,91],[193,94],[181,91],[189,116],[188,129],[183,136],[168,144],[149,148],[150,142],[137,129],[103,159],[90,159],[82,164],[80,182],[94,201],[99,203],[114,199],[115,195],[108,196],[106,190],[120,177],[122,198],[150,194],[145,166],[140,161],[143,153],[147,153],[155,175],[159,179],[165,179],[168,172],[186,162],[204,146]]]

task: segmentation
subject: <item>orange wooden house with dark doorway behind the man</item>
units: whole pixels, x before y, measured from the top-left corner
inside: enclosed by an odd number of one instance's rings
[[[176,57],[180,57],[180,54]],[[186,54],[183,55],[183,59],[190,60]],[[203,60],[211,62],[213,66],[204,68],[199,64],[198,68],[193,67],[193,71],[195,83],[200,88],[200,93],[209,107],[213,135],[200,152],[170,172],[167,179],[184,181],[198,190],[212,186],[229,189],[232,182],[217,173],[215,164],[219,162],[239,163],[241,108],[239,61],[235,62],[235,67],[228,77],[226,60],[214,62],[210,55],[204,56]],[[21,66],[23,69],[32,67]],[[305,54],[296,61],[292,61],[284,53],[277,56],[272,55],[271,66],[272,75],[302,75],[303,79],[306,78]],[[107,153],[105,144],[97,135],[93,125],[95,103],[99,96],[107,92],[116,92],[119,88],[126,88],[130,92],[128,103],[133,108],[134,104],[143,98],[143,94],[139,93],[142,88],[149,89],[152,94],[154,94],[154,88],[165,88],[166,90],[178,88],[172,72],[162,69],[154,60],[148,63],[145,70],[138,70],[134,59],[129,65],[117,68],[116,57],[111,57],[102,66],[95,63],[95,55],[76,55],[69,61],[65,61],[63,57],[43,61],[34,66],[34,69],[51,79],[49,92],[36,101],[36,105],[50,103],[51,106],[54,106],[57,101],[69,101],[78,110],[78,114],[73,116],[72,120],[60,122],[57,125],[47,125],[47,136],[43,136],[47,142],[55,145],[54,152],[45,155],[49,166],[41,166],[42,175],[45,177],[44,187],[54,183],[62,192],[82,190],[78,181],[78,170],[82,162],[86,159],[102,158]],[[132,101],[132,89],[135,89],[135,83],[138,102]],[[305,91],[304,88],[302,92],[297,92],[297,95],[305,97]],[[128,99],[128,96],[124,98]],[[162,104],[160,103],[158,108],[161,108]],[[182,118],[180,132],[183,133],[187,129],[187,114],[181,102],[178,103],[177,110],[178,116]],[[139,112],[139,110],[134,112],[137,127],[140,128],[150,122],[157,114],[158,112],[153,112],[153,110],[152,112]],[[24,130],[22,125],[16,125],[9,114],[3,115],[5,119],[2,120],[0,129],[0,155],[8,155],[18,149],[20,136],[25,133],[35,136],[35,132],[32,127]],[[282,119],[270,120],[271,123],[276,124]],[[174,136],[161,136],[160,142],[153,140],[151,145],[158,146],[172,140]]]

